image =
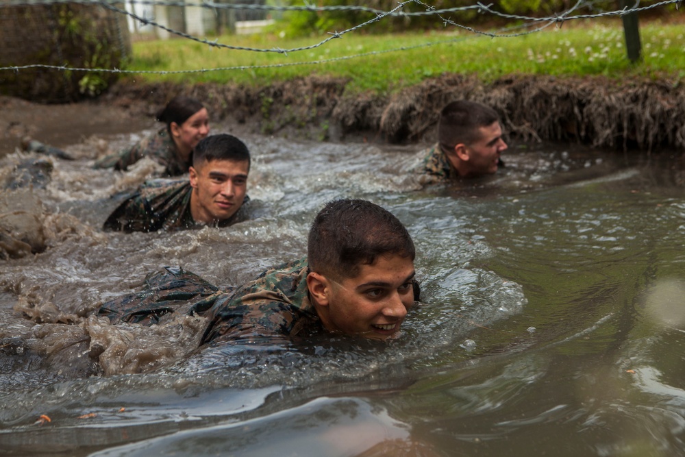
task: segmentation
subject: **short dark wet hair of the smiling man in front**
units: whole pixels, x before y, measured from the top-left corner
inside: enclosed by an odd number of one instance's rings
[[[360,199],[330,201],[316,215],[307,245],[310,271],[333,279],[356,277],[362,264],[395,254],[413,261],[414,242],[392,213]]]

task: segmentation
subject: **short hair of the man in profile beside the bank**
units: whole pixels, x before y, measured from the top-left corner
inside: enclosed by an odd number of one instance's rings
[[[480,127],[497,121],[497,112],[489,106],[477,101],[453,101],[440,112],[438,141],[443,149],[454,149],[460,143],[471,145],[480,139]]]

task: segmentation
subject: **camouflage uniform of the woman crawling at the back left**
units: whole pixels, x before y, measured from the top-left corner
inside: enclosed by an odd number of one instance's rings
[[[166,127],[163,127],[155,134],[138,141],[132,147],[97,160],[95,168],[114,168],[115,170],[126,171],[129,165],[138,162],[143,157],[151,158],[164,165],[162,177],[184,175],[188,173],[188,167],[191,165],[190,161],[179,160],[176,144]]]

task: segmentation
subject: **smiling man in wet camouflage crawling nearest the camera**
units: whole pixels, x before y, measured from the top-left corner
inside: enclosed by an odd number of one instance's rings
[[[112,323],[154,323],[173,311],[201,314],[210,321],[201,345],[278,343],[317,333],[385,340],[397,335],[419,299],[414,256],[397,217],[369,201],[340,199],[314,219],[306,257],[229,291],[167,268],[148,279],[145,291],[110,301],[99,314]],[[171,295],[173,284],[182,297]]]

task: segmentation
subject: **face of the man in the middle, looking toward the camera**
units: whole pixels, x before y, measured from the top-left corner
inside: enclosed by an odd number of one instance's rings
[[[236,214],[247,192],[247,160],[203,161],[189,169],[190,211],[196,222],[223,221]]]

